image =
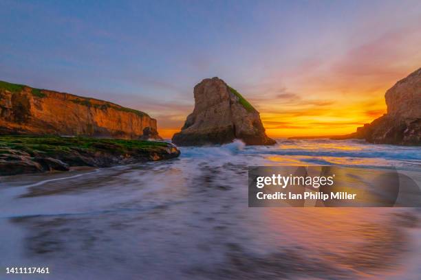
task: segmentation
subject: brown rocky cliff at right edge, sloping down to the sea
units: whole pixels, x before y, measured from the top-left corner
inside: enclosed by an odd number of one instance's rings
[[[387,114],[345,137],[370,143],[421,145],[421,68],[397,82],[385,94]]]

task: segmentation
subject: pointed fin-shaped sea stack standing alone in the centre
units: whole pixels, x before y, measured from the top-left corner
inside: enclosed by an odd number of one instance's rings
[[[223,80],[202,80],[195,86],[194,97],[193,113],[173,136],[176,145],[224,144],[234,139],[247,145],[276,143],[266,136],[259,112]]]

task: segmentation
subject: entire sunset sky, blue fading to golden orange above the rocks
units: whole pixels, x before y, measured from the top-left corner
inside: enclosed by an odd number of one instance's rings
[[[340,135],[421,67],[421,1],[0,1],[0,80],[108,100],[163,137],[218,76],[271,137]]]

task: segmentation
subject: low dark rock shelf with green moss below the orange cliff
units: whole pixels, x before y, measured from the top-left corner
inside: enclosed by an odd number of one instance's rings
[[[66,171],[71,166],[111,167],[173,159],[171,143],[59,136],[0,136],[0,176]]]

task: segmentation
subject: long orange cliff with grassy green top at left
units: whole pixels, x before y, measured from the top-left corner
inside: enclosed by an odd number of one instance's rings
[[[0,133],[159,138],[146,113],[69,93],[0,81]]]

